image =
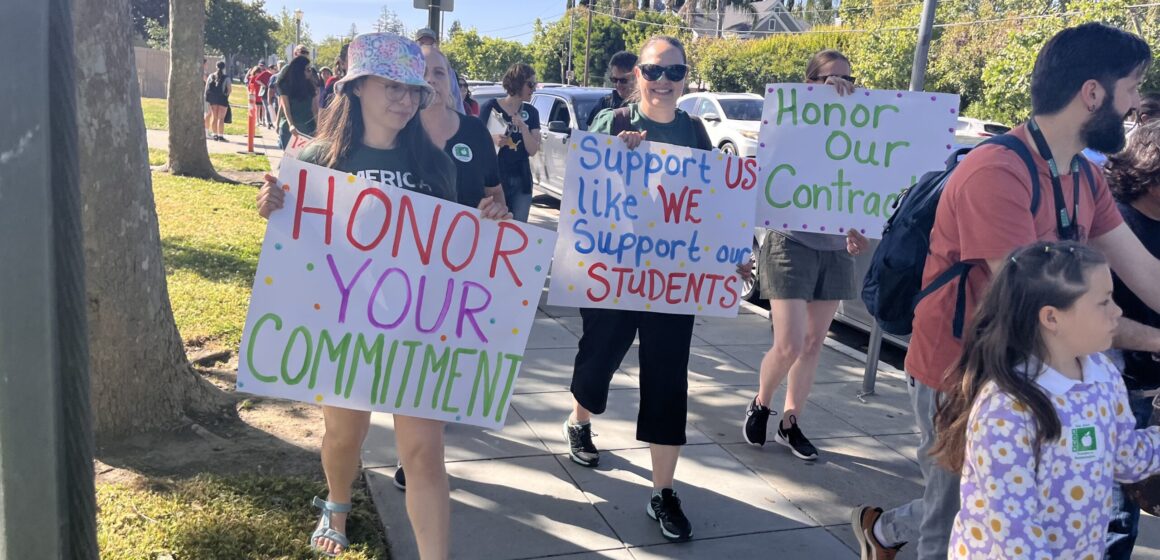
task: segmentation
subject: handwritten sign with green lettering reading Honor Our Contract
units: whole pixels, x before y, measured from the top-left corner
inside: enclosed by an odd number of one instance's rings
[[[957,118],[958,95],[767,86],[759,225],[882,237],[899,192],[944,167]]]

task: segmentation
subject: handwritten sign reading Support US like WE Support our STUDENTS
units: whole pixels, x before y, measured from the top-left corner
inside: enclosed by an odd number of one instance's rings
[[[737,315],[757,162],[572,133],[549,303]]]

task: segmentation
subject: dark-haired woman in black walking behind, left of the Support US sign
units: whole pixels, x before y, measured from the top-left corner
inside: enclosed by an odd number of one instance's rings
[[[527,64],[513,64],[503,74],[507,96],[488,100],[479,108],[487,124],[494,112],[506,125],[502,134],[492,134],[500,165],[503,197],[512,214],[528,221],[531,212],[531,157],[539,152],[539,111],[531,107],[536,92],[536,71]]]

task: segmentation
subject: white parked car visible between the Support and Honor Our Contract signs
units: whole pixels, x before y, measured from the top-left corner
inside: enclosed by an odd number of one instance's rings
[[[757,94],[694,93],[682,95],[676,107],[705,123],[713,146],[744,158],[757,155],[757,129],[764,100]]]

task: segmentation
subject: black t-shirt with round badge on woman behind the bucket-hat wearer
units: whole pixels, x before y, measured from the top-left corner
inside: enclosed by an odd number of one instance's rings
[[[455,163],[459,204],[477,208],[486,196],[484,189],[500,184],[494,146],[484,123],[476,117],[459,115],[459,130],[443,146],[443,153]]]

